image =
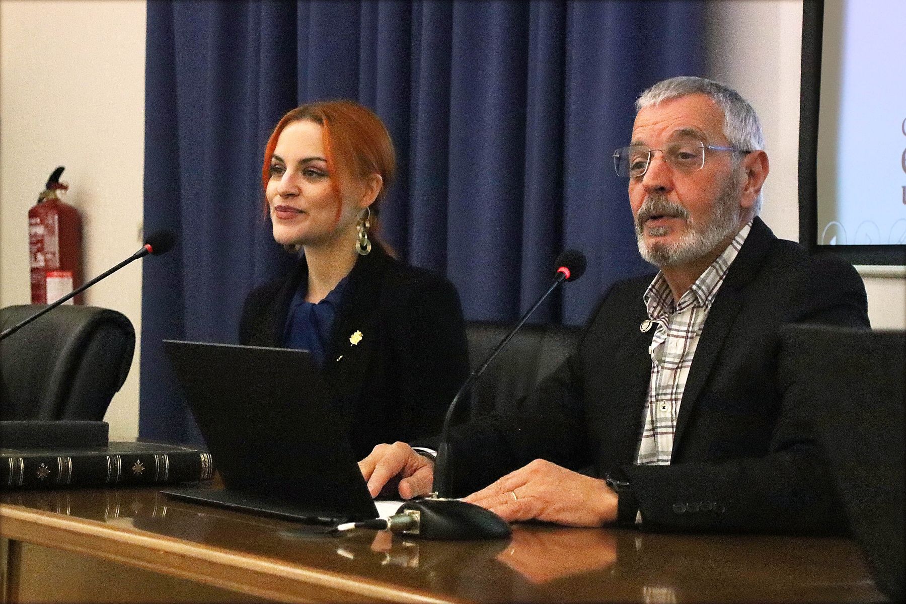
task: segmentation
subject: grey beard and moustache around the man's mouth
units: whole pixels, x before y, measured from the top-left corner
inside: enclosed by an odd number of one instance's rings
[[[679,204],[671,202],[666,196],[652,194],[645,197],[635,220],[635,235],[639,244],[639,254],[646,262],[655,266],[674,266],[698,260],[713,250],[717,244],[726,239],[739,228],[739,179],[736,174],[728,179],[720,191],[715,208],[705,225],[689,222],[689,211]],[[675,244],[646,243],[644,224],[651,216],[675,216],[689,225],[689,230]],[[650,229],[651,235],[660,236],[668,233],[669,227]]]

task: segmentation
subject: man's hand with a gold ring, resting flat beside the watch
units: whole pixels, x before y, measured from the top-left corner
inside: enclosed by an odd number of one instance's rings
[[[487,508],[506,522],[601,526],[617,519],[617,494],[604,481],[543,459],[535,459],[464,501]]]

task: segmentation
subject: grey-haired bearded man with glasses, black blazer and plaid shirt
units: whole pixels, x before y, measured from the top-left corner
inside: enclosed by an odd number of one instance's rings
[[[615,283],[578,348],[515,416],[453,430],[454,487],[507,521],[651,530],[834,532],[844,526],[809,411],[785,398],[786,323],[867,328],[852,266],[757,217],[761,127],[715,81],[661,81],[613,153],[639,251],[657,274]],[[372,494],[429,492],[429,452],[379,445]],[[489,484],[489,486],[485,486]],[[484,487],[484,488],[481,488]]]

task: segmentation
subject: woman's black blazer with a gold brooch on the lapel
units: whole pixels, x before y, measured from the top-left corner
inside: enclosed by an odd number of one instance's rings
[[[307,283],[302,259],[283,282],[246,298],[239,341],[282,346],[294,292]],[[360,331],[361,341],[352,343]],[[352,449],[439,432],[468,375],[465,324],[447,279],[402,264],[374,244],[352,268],[324,355],[323,378]]]

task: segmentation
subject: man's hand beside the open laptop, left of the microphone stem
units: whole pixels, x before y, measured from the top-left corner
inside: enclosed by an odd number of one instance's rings
[[[372,497],[381,493],[384,484],[397,475],[402,479],[400,497],[403,499],[429,494],[434,482],[434,464],[406,443],[375,446],[371,454],[359,462],[359,469],[368,481],[368,492]]]

